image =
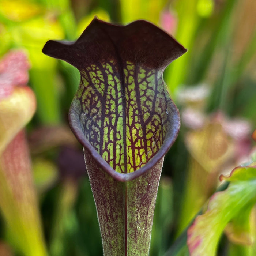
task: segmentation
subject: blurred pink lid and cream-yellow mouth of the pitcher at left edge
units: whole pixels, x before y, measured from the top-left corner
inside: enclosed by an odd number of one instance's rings
[[[0,154],[35,113],[35,95],[26,86],[28,68],[22,51],[7,54],[0,63]]]

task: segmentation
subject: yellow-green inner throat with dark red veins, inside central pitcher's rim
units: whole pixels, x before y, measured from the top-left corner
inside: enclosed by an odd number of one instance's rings
[[[84,69],[74,100],[87,140],[114,170],[129,173],[161,147],[171,100],[162,72],[128,61],[123,67],[123,74],[114,61]]]

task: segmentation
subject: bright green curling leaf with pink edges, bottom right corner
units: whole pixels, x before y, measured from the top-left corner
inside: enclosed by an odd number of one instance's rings
[[[256,202],[255,170],[255,164],[237,167],[229,177],[225,177],[230,181],[229,187],[211,197],[207,211],[196,217],[188,229],[187,244],[191,256],[216,255],[218,241],[226,225],[243,208]]]

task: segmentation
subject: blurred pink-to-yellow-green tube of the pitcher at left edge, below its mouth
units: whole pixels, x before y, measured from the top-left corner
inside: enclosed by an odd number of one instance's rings
[[[47,255],[24,131],[0,157],[0,207],[10,228],[10,242],[24,255]]]

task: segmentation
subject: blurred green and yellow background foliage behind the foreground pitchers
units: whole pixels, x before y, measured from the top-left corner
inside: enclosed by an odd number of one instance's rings
[[[215,191],[219,174],[255,147],[255,13],[252,0],[0,0],[0,57],[23,49],[31,64],[37,112],[27,136],[49,255],[98,256],[102,245],[82,147],[67,121],[79,72],[42,54],[45,42],[77,39],[96,15],[118,24],[148,20],[188,49],[164,74],[182,125],[155,209],[150,255],[161,256]],[[0,255],[20,255],[10,236],[1,219]],[[255,255],[243,241],[226,232],[219,255]],[[188,255],[185,247],[180,255]]]

